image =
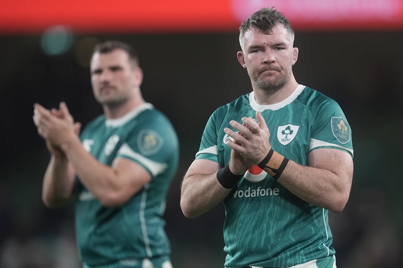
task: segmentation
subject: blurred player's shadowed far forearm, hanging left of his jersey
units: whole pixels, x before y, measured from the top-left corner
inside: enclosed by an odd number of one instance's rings
[[[64,205],[71,197],[75,173],[68,159],[51,156],[42,184],[42,200],[48,207]]]

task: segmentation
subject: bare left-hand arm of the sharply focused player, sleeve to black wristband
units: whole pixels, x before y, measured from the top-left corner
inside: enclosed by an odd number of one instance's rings
[[[206,159],[196,159],[183,177],[180,208],[187,218],[197,217],[222,202],[231,189],[217,180],[220,165]]]

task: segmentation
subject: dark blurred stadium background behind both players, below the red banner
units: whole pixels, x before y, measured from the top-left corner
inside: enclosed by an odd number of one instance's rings
[[[383,3],[389,2],[400,3]],[[330,213],[338,267],[398,268],[403,263],[403,180],[398,167],[403,149],[403,27],[367,22],[367,27],[361,22],[349,28],[344,21],[340,29],[329,24],[327,30],[320,23],[296,22],[300,54],[294,74],[299,83],[338,101],[353,130],[350,201],[343,212]],[[49,26],[24,32],[5,31],[12,27],[0,25],[1,268],[80,265],[72,206],[47,209],[41,202],[49,154],[32,122],[33,104],[52,108],[65,101],[84,126],[101,114],[88,64],[93,46],[109,39],[136,47],[145,73],[143,95],[171,119],[179,136],[180,165],[165,213],[174,267],[223,267],[223,207],[186,219],[179,199],[182,176],[208,117],[218,106],[251,91],[246,70],[236,59],[237,26],[124,32]]]

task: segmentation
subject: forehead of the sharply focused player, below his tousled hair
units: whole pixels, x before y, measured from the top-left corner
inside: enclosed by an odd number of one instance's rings
[[[272,33],[265,33],[258,29],[250,29],[245,32],[243,37],[244,47],[257,46],[257,45],[273,45],[273,44],[289,44],[292,46],[292,35],[287,31],[284,26],[275,26]]]

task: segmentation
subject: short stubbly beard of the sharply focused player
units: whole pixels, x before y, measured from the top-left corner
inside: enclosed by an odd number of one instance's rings
[[[259,69],[255,72],[250,73],[248,71],[250,80],[262,91],[267,93],[275,93],[279,91],[285,84],[290,81],[291,69],[287,72],[280,72],[278,76],[266,77],[260,75],[265,69]]]

